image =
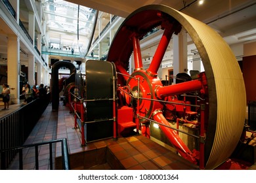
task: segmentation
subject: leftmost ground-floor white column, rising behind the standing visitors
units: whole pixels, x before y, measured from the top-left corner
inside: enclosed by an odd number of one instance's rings
[[[7,84],[11,89],[11,101],[18,103],[20,96],[20,39],[8,36],[7,43]]]

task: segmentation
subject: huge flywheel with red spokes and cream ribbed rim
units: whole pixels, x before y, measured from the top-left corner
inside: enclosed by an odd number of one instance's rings
[[[161,26],[163,35],[158,44],[150,67],[143,68],[140,52],[140,39]],[[158,78],[158,69],[173,34],[178,35],[182,27],[186,29],[202,58],[205,73],[198,79],[163,86]],[[127,73],[131,54],[134,56],[135,69]],[[230,157],[240,140],[245,120],[245,87],[240,67],[229,46],[209,26],[164,5],[148,5],[135,10],[128,16],[112,41],[108,61],[116,64],[119,86],[123,86],[136,98],[140,97],[140,123],[150,118],[163,124],[161,130],[171,139],[181,156],[192,163],[196,161],[192,152],[184,145],[176,131],[165,127],[168,122],[163,115],[163,103],[169,96],[197,91],[205,98],[202,105],[205,126],[203,141],[205,169],[214,169]],[[138,85],[139,84],[139,85]],[[139,88],[138,88],[139,86]],[[207,105],[205,107],[205,105]],[[201,115],[202,115],[201,114]],[[202,116],[201,116],[202,117]]]

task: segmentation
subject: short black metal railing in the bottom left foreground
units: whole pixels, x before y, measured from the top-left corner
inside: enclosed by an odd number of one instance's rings
[[[1,170],[7,169],[8,165],[8,158],[7,154],[16,154],[18,152],[18,162],[19,162],[19,169],[23,170],[23,150],[25,148],[35,148],[35,169],[39,169],[39,146],[43,146],[45,144],[49,144],[49,165],[50,169],[53,170],[53,144],[61,142],[61,148],[62,148],[62,169],[69,170],[70,169],[70,158],[68,153],[68,142],[67,139],[57,139],[53,141],[47,141],[47,142],[40,142],[36,144],[29,144],[24,146],[18,146],[15,148],[8,148],[6,150],[1,150]]]

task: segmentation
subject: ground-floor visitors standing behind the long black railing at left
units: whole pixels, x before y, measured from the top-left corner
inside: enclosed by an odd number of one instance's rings
[[[43,99],[47,96],[47,94],[50,92],[50,88],[48,86],[44,86],[44,84],[40,84],[39,89],[35,85],[33,87],[30,87],[30,84],[24,84],[22,88],[22,95],[24,95],[24,102],[22,105],[25,105],[27,103],[30,103],[33,99],[36,99],[37,97]],[[3,84],[3,103],[4,108],[2,110],[9,110],[9,101],[10,101],[10,88],[8,84]]]

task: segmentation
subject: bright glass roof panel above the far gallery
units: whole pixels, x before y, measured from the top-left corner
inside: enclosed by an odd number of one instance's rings
[[[54,42],[78,50],[84,57],[95,27],[97,11],[62,0],[43,0],[49,45]]]

